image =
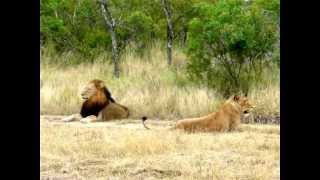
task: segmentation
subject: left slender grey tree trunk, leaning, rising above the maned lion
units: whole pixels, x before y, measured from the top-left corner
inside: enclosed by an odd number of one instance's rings
[[[120,77],[120,67],[119,67],[119,51],[118,51],[118,42],[116,35],[116,23],[114,18],[111,15],[111,12],[108,8],[107,0],[100,0],[101,11],[104,18],[104,21],[108,25],[108,30],[111,34],[112,41],[112,61],[114,64],[113,75],[116,78]]]

